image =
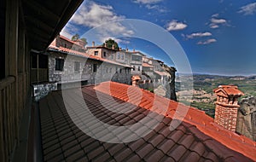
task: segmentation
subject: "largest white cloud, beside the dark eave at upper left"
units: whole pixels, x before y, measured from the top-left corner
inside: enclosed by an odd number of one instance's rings
[[[133,31],[128,30],[118,22],[118,20],[122,19],[125,19],[125,16],[114,13],[113,7],[110,5],[100,5],[93,2],[83,3],[79,10],[73,14],[68,28],[71,31],[73,30],[71,26],[76,27],[79,25],[90,28],[100,26],[97,28],[98,36],[95,37],[104,42],[103,38],[108,38],[112,34],[124,37],[133,34]],[[102,26],[104,23],[108,23],[108,26]]]

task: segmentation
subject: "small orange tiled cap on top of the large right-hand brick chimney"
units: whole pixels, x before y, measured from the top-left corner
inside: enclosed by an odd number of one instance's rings
[[[241,96],[244,95],[241,90],[238,90],[236,85],[219,85],[217,89],[213,90],[214,93],[222,92],[222,95],[224,96],[230,96],[230,95],[237,95]]]

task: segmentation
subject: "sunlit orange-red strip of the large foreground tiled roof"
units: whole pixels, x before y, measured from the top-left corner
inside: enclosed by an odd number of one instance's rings
[[[129,102],[129,96],[127,95],[127,91],[129,91],[128,89],[131,89],[130,85],[114,82],[98,84],[95,87],[95,90],[99,90],[105,94],[112,95],[113,97],[117,97],[121,100]],[[207,136],[211,136],[214,140],[222,143],[227,148],[230,148],[238,153],[242,153],[250,159],[256,161],[256,142],[253,142],[246,136],[238,135],[230,130],[224,129],[218,124],[215,124],[213,119],[207,116],[207,114],[201,110],[194,107],[185,106],[182,103],[171,101],[158,95],[154,95],[148,90],[141,91],[143,92],[143,96],[141,99],[142,102],[139,103],[140,107],[147,108],[148,110],[156,113],[161,113],[171,119],[174,118],[174,114],[177,113],[177,111],[186,110],[188,113],[185,114],[183,121],[195,125],[195,127],[198,130],[201,130],[202,133],[206,134]],[[148,104],[144,104],[146,101],[148,101]],[[160,102],[159,105],[154,104],[154,102],[157,101]],[[160,107],[167,107],[167,111],[160,111]]]

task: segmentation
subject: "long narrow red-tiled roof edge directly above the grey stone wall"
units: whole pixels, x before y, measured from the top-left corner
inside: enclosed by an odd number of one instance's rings
[[[126,64],[118,63],[116,61],[110,61],[108,59],[103,59],[101,57],[97,57],[96,55],[89,55],[89,54],[86,54],[84,52],[79,52],[77,50],[67,49],[67,48],[64,48],[64,47],[55,47],[53,45],[49,45],[48,49],[49,49],[49,51],[58,51],[58,52],[61,52],[61,53],[64,53],[64,54],[77,55],[77,56],[86,57],[86,58],[96,60],[96,61],[108,62],[109,64],[114,64],[114,65],[118,65],[118,66],[121,66],[121,67],[131,67],[131,66],[126,65]]]

